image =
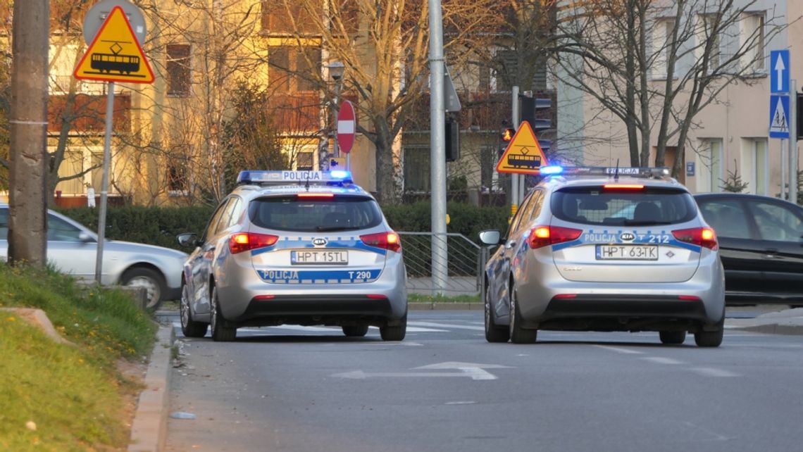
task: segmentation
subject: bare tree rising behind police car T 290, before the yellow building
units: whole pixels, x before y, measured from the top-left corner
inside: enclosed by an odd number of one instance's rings
[[[273,6],[271,6],[273,5]],[[491,33],[495,4],[449,1],[443,5],[446,47],[450,67],[461,67],[468,49]],[[426,90],[428,81],[428,10],[426,2],[406,0],[281,0],[263,2],[263,8],[287,27],[270,27],[273,35],[286,29],[297,47],[317,41],[323,64],[340,61],[345,65],[341,92],[353,93],[361,117],[357,132],[376,149],[377,198],[396,202],[399,169],[399,132],[408,119],[414,100]],[[269,24],[270,25],[270,24]],[[481,33],[488,31],[487,33]],[[306,67],[320,67],[308,59]],[[291,68],[282,68],[291,69]],[[310,71],[305,79],[315,83],[327,102],[335,99],[334,87],[324,71]],[[395,149],[395,150],[394,150]]]

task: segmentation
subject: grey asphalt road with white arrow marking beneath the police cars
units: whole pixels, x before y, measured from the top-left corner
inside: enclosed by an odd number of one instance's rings
[[[748,316],[747,308],[729,316]],[[763,312],[764,309],[759,309]],[[803,450],[803,340],[727,331],[540,332],[487,344],[481,312],[414,311],[375,328],[245,328],[181,339],[169,451]]]

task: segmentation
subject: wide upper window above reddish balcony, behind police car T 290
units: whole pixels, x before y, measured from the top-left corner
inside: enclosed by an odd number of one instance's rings
[[[320,47],[275,46],[268,51],[268,71],[275,92],[314,92],[320,78]]]

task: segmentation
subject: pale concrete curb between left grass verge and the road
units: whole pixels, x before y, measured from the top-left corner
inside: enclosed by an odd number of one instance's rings
[[[145,389],[140,393],[131,426],[128,452],[159,452],[165,446],[174,339],[173,325],[160,324],[145,373]]]

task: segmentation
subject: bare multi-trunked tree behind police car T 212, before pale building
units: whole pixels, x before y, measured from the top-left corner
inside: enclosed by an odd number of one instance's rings
[[[787,21],[749,0],[585,0],[560,12],[553,50],[570,86],[622,121],[630,165],[655,165],[677,145],[681,169],[695,116],[730,83],[752,84],[764,44]],[[761,11],[756,14],[756,11]],[[756,23],[746,22],[756,18]],[[791,21],[790,21],[791,22]],[[574,55],[572,58],[570,55]],[[569,56],[569,58],[567,58]]]

